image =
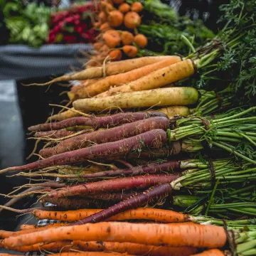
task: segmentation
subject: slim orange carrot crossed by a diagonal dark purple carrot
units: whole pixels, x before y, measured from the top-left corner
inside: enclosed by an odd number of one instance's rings
[[[82,209],[68,211],[48,211],[48,210],[33,210],[32,214],[39,220],[62,220],[62,221],[78,221],[88,216],[99,213],[101,209]],[[108,221],[119,220],[154,220],[159,223],[182,223],[193,221],[191,215],[176,213],[173,210],[163,210],[155,208],[137,208],[126,210],[123,213],[118,213],[109,218]]]

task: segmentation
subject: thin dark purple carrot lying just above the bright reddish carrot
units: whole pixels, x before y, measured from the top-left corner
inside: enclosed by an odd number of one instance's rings
[[[180,164],[178,161],[166,161],[161,164],[151,163],[145,166],[135,166],[130,169],[117,169],[113,171],[100,171],[94,174],[70,174],[66,178],[102,178],[115,176],[138,176],[144,174],[158,174],[161,171],[179,171]]]

